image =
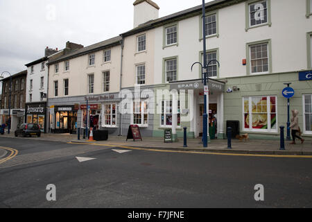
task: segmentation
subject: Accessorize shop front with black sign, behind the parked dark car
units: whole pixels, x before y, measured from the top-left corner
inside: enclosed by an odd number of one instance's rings
[[[46,103],[26,103],[26,123],[37,123],[42,133],[46,133]]]

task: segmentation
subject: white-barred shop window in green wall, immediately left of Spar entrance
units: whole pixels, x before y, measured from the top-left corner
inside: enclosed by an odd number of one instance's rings
[[[162,108],[160,114],[161,126],[172,126],[172,101],[162,101]],[[181,126],[180,118],[180,101],[177,101],[177,126]]]

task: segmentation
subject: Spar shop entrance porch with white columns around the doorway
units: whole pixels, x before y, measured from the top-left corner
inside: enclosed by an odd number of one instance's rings
[[[223,97],[225,91],[225,83],[219,80],[210,79],[208,81],[207,96],[207,114],[208,114],[208,130],[210,139],[223,139]],[[170,90],[177,90],[180,97],[181,115],[188,114],[187,120],[188,137],[202,137],[203,133],[203,114],[204,114],[204,85],[199,80],[182,80],[170,83]],[[187,94],[187,101],[182,103],[181,95]],[[181,117],[181,118],[182,118]],[[184,118],[185,119],[185,118]],[[184,123],[184,125],[186,124]]]

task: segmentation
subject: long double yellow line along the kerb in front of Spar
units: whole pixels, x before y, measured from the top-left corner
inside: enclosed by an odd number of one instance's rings
[[[69,144],[80,144],[83,143],[75,143],[69,142]],[[89,143],[88,143],[89,144]],[[268,155],[268,154],[243,154],[243,153],[216,153],[216,152],[201,152],[201,151],[171,151],[171,150],[162,150],[156,148],[141,148],[141,147],[132,147],[132,146],[120,146],[118,144],[94,144],[90,143],[90,145],[94,146],[112,146],[112,147],[121,147],[128,148],[132,150],[140,150],[140,151],[155,151],[155,152],[164,152],[164,153],[193,153],[193,154],[207,154],[207,155],[234,155],[234,156],[249,156],[249,157],[284,157],[284,158],[312,158],[312,155]]]

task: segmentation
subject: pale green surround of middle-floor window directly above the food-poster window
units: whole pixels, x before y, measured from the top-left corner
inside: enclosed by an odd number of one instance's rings
[[[268,71],[266,72],[257,72],[252,73],[252,66],[251,66],[251,56],[250,56],[250,46],[254,46],[257,44],[268,44]],[[248,42],[246,43],[246,74],[250,75],[261,75],[261,74],[271,74],[272,73],[272,44],[271,40],[261,40],[257,42]]]

